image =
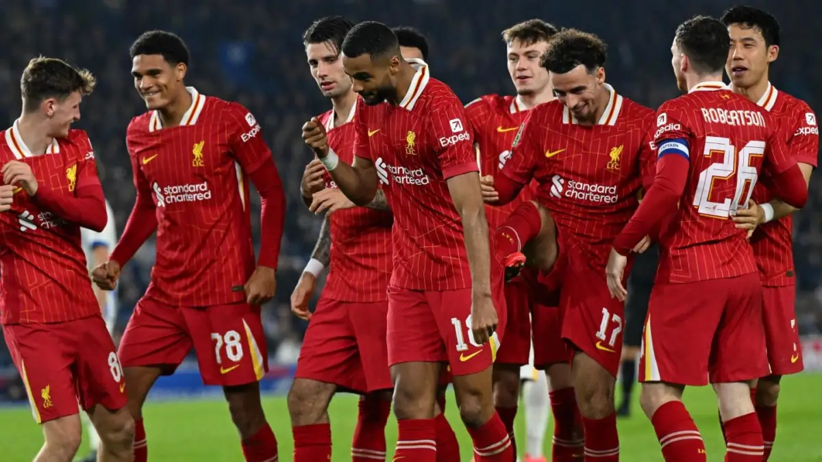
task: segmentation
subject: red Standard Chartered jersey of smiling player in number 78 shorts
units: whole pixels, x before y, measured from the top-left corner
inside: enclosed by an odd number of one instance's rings
[[[235,303],[255,268],[247,172],[271,152],[242,105],[189,91],[178,127],[163,128],[150,111],[127,130],[137,194],[152,198],[158,224],[145,296],[172,306]]]

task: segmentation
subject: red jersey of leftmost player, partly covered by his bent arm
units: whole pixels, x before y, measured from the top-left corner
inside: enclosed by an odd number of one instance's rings
[[[99,185],[94,151],[85,132],[71,130],[44,155],[32,155],[14,126],[0,135],[0,161],[29,164],[41,187],[75,195]],[[80,225],[68,222],[21,188],[12,209],[0,214],[0,322],[25,324],[100,316],[91,289]]]

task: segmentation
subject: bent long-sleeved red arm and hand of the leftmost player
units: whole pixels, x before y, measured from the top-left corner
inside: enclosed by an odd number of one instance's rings
[[[103,187],[97,177],[95,154],[85,133],[76,135],[81,143],[83,158],[77,159],[75,167],[67,171],[74,177],[74,196],[56,192],[44,185],[38,185],[29,165],[12,160],[4,164],[0,172],[6,184],[21,184],[29,192],[32,200],[51,210],[62,219],[81,225],[83,228],[102,231],[108,222],[105,211]],[[72,169],[74,169],[72,171]]]

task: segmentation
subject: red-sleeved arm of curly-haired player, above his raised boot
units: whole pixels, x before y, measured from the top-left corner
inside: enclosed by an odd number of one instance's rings
[[[494,175],[494,187],[499,194],[495,206],[505,206],[513,201],[533,178],[533,171],[537,169],[537,159],[542,153],[537,146],[536,137],[542,132],[539,131],[539,123],[532,122],[534,113],[532,110],[525,118],[525,122],[520,126],[520,132],[517,132],[514,141],[511,142],[511,158]]]

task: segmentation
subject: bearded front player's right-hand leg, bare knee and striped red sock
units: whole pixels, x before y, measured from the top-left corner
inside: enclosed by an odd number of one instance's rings
[[[492,367],[453,379],[459,417],[473,440],[476,462],[512,462],[516,455],[499,414],[494,409]]]

